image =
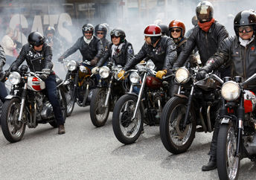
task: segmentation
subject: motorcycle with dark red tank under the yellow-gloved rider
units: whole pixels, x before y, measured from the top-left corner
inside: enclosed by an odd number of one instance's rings
[[[129,74],[132,87],[140,88],[138,94],[129,91],[115,103],[112,126],[115,137],[123,144],[132,144],[141,135],[143,123],[150,126],[159,125],[161,108],[170,98],[169,83],[163,77],[159,80],[151,60],[147,64],[136,65],[136,70]]]

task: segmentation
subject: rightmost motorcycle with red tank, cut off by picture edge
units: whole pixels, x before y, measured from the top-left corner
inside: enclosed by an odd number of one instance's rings
[[[256,161],[256,96],[246,86],[256,74],[242,83],[242,77],[224,78],[217,138],[217,170],[220,179],[238,179],[240,160]]]

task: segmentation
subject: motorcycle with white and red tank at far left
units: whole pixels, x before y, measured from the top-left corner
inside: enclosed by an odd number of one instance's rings
[[[8,78],[12,86],[10,94],[5,97],[1,113],[1,129],[7,141],[20,141],[26,125],[36,128],[38,123],[50,123],[54,128],[57,127],[53,108],[45,95],[45,82],[39,77],[39,74],[47,73],[50,72],[28,72],[27,65],[10,73]],[[63,80],[58,78],[57,92],[65,120],[65,88]]]

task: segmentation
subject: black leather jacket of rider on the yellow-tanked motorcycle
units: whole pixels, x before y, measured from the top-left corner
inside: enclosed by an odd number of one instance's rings
[[[95,57],[97,57],[97,59],[100,60],[100,58],[103,56],[102,42],[100,39],[97,38],[97,36],[93,36],[93,39],[89,43],[89,45],[83,40],[83,36],[81,36],[79,39],[77,39],[77,42],[74,43],[74,45],[71,48],[65,51],[62,57],[66,58],[78,49],[83,56],[83,61],[91,61]]]

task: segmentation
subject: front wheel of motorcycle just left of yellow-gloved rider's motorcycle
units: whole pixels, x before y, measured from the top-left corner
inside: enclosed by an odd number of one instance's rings
[[[108,107],[103,107],[105,100],[106,88],[97,88],[93,91],[90,103],[90,117],[96,127],[104,126],[109,118],[109,105]]]

